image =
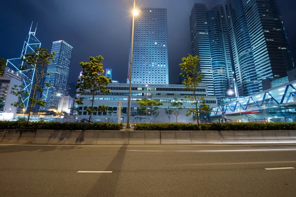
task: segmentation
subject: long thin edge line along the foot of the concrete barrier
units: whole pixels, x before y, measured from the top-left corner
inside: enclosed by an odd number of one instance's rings
[[[243,142],[242,142],[243,143]],[[295,143],[276,143],[272,144],[272,146],[282,146],[285,145],[296,145]],[[122,147],[122,146],[129,146],[129,147],[203,147],[203,146],[270,146],[271,144],[257,144],[257,143],[244,143],[244,144],[223,144],[220,143],[220,145],[65,145],[65,144],[0,144],[0,146],[80,146],[80,147]]]

